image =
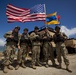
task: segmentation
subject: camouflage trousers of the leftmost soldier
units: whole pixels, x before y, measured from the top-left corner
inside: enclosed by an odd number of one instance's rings
[[[16,47],[14,45],[6,45],[6,49],[3,52],[4,53],[4,65],[9,65],[12,64],[15,58],[15,53],[16,53]]]

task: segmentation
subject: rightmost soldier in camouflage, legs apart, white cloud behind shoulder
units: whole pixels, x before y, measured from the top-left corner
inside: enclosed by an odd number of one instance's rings
[[[56,43],[57,60],[59,62],[58,68],[62,67],[61,66],[61,63],[62,63],[61,55],[62,55],[64,58],[65,65],[66,65],[66,69],[68,70],[69,60],[67,58],[67,49],[64,44],[64,41],[67,39],[67,36],[60,32],[59,26],[55,27],[55,31],[56,33],[54,34],[54,42]]]

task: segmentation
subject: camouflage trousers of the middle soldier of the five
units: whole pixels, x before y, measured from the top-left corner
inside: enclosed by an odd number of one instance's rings
[[[40,46],[33,46],[32,47],[32,65],[35,63],[40,63]]]

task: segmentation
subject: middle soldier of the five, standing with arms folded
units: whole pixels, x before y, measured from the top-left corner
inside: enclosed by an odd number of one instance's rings
[[[38,30],[39,28],[36,26],[34,28],[34,32],[32,32],[30,34],[30,39],[32,41],[32,68],[33,69],[36,69],[36,66],[35,64],[37,63],[37,65],[39,65],[41,67],[41,64],[40,64],[40,46],[41,46],[41,43],[40,43],[40,36],[38,34]]]

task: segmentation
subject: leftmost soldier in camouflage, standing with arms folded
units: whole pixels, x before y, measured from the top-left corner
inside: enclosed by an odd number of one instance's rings
[[[8,69],[13,70],[13,67],[11,66],[11,64],[14,61],[16,48],[18,46],[18,41],[20,36],[19,30],[20,30],[20,27],[16,26],[13,31],[9,31],[4,35],[4,37],[6,38],[6,49],[3,52],[5,57],[3,61],[4,73],[7,73]]]

